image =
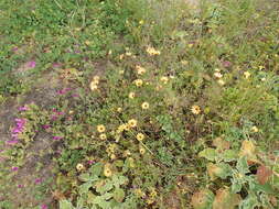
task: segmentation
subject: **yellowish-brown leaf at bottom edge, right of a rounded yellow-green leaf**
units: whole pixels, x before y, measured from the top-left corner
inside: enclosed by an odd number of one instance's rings
[[[232,194],[228,188],[218,189],[213,202],[213,209],[234,209],[242,198],[238,194]]]

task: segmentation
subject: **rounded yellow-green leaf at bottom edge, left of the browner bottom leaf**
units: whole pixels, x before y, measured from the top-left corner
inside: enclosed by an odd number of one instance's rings
[[[194,209],[212,209],[214,194],[210,189],[202,189],[192,196],[191,205]]]

